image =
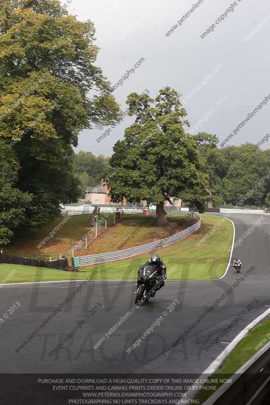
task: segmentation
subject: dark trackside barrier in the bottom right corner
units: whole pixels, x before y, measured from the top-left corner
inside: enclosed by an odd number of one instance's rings
[[[258,351],[204,405],[266,405],[270,398],[270,343]]]

